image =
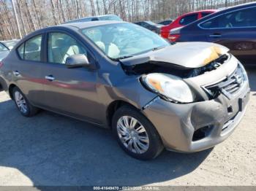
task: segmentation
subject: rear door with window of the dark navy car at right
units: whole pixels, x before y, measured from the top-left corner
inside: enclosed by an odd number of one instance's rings
[[[256,60],[256,7],[238,9],[206,20],[200,24],[208,42],[216,42],[230,49],[245,63]]]

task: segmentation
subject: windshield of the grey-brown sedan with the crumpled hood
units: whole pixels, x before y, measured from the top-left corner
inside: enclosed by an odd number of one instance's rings
[[[165,39],[146,28],[132,23],[116,23],[82,29],[105,55],[125,58],[170,45]]]

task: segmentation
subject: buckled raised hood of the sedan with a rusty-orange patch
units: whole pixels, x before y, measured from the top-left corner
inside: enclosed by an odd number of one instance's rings
[[[161,65],[176,65],[185,68],[206,66],[229,49],[219,44],[208,42],[179,42],[165,48],[135,55],[121,60],[125,66],[141,63],[161,63]]]

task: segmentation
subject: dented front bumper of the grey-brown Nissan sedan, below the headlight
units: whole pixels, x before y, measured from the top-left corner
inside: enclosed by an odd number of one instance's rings
[[[235,130],[249,101],[249,82],[233,98],[217,98],[191,104],[175,104],[155,98],[143,113],[157,128],[166,149],[198,152],[214,147]]]

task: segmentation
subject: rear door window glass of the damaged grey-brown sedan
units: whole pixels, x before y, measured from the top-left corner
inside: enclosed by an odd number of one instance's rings
[[[18,47],[18,55],[25,61],[41,61],[42,35],[35,36]]]

